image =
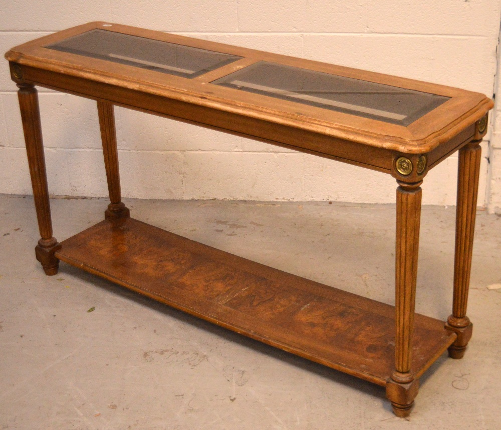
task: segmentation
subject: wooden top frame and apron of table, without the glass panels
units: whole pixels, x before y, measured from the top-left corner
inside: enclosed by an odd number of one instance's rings
[[[196,78],[186,79],[43,48],[94,29],[242,58]],[[427,167],[430,168],[468,140],[481,138],[478,121],[493,107],[492,101],[483,94],[457,88],[104,22],[74,27],[20,45],[10,50],[6,59],[10,62],[12,79],[18,84],[33,83],[106,100],[119,106],[362,165],[396,177],[394,161],[401,154],[426,154]],[[259,61],[450,99],[405,127],[211,84]]]

